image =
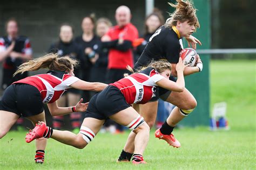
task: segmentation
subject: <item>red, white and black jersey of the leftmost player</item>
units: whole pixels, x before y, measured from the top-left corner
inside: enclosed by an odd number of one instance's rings
[[[38,74],[26,77],[25,79],[14,82],[24,83],[35,86],[41,93],[43,103],[53,103],[59,99],[72,83],[78,81],[75,76],[69,73],[50,70],[46,74]]]

